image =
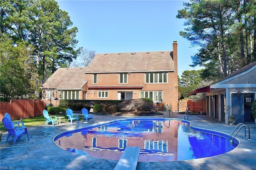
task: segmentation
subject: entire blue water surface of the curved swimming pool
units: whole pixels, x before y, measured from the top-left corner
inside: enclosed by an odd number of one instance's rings
[[[239,141],[228,134],[193,128],[179,119],[125,119],[63,132],[54,137],[64,150],[119,160],[126,146],[139,146],[139,162],[169,162],[215,156]]]

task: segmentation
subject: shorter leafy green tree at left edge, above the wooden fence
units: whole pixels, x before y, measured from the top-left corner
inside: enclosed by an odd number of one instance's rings
[[[32,46],[25,42],[15,44],[7,36],[0,38],[0,94],[4,101],[22,95],[32,97],[31,87],[35,77],[30,58],[32,51]]]

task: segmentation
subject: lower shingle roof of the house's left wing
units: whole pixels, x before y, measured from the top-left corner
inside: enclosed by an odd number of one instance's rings
[[[43,84],[43,87],[57,89],[82,89],[85,80],[86,67],[58,68]]]

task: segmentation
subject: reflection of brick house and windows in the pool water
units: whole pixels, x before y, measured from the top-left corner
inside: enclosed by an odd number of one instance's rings
[[[178,120],[120,121],[62,136],[56,145],[96,158],[119,160],[127,146],[139,146],[140,162],[177,160]]]

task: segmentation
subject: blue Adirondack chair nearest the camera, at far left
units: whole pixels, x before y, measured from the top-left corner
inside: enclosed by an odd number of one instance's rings
[[[6,142],[7,142],[7,140],[9,139],[9,137],[11,135],[14,136],[14,139],[13,139],[14,143],[16,142],[16,139],[17,138],[20,139],[20,137],[23,134],[27,134],[27,136],[28,136],[28,129],[27,129],[27,127],[13,128],[12,121],[10,121],[10,119],[8,119],[7,117],[4,117],[2,122],[4,124],[4,127],[8,131],[8,136],[7,136]],[[28,140],[29,140],[29,137],[28,137]]]

